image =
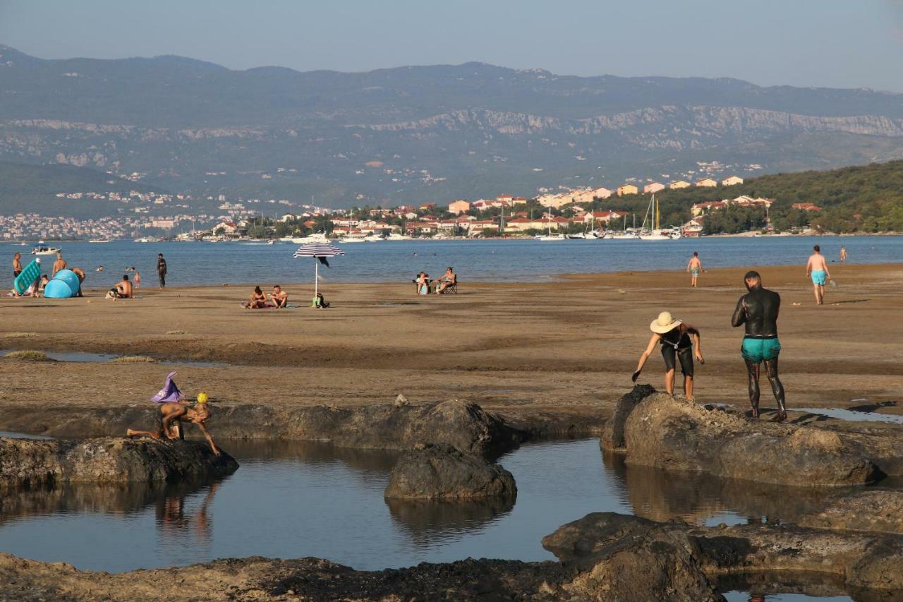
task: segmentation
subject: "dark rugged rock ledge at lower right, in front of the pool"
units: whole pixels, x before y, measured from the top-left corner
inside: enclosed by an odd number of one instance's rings
[[[703,582],[721,575],[810,571],[842,578],[851,588],[903,594],[899,535],[764,524],[691,527],[680,521],[591,513],[547,535],[543,546],[587,571],[584,574],[599,575],[608,583],[621,576],[636,578],[659,584],[658,590],[702,589]],[[643,550],[655,553],[644,559]],[[641,598],[656,599],[645,592]]]

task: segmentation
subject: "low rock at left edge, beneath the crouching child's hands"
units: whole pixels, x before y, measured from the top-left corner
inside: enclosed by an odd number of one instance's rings
[[[238,464],[200,441],[0,438],[0,486],[173,482],[229,475]]]

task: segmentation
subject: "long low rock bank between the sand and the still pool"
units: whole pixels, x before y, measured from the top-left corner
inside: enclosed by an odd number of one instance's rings
[[[131,406],[10,408],[0,417],[0,429],[51,437],[111,437],[129,427],[153,425],[156,411]],[[217,404],[208,427],[215,437],[330,441],[358,449],[410,449],[430,442],[480,455],[507,451],[527,437],[476,403],[459,400],[342,408]]]

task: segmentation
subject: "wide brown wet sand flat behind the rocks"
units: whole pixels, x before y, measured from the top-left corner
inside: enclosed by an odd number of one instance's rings
[[[742,329],[730,325],[745,271],[711,270],[697,289],[684,272],[504,284],[471,284],[464,274],[460,294],[428,297],[415,296],[411,284],[328,285],[334,306],[327,310],[246,310],[239,303],[251,287],[241,286],[143,288],[124,301],[105,300],[101,290],[79,299],[3,298],[0,349],[229,365],[0,360],[0,403],[142,405],[177,370],[182,390],[228,404],[388,403],[404,393],[411,401],[473,400],[512,416],[599,419],[630,389],[649,322],[666,309],[702,330],[696,400],[746,407]],[[828,287],[825,306],[815,306],[802,266],[759,271],[783,298],[780,369],[789,408],[900,399],[903,264],[832,266],[840,286]],[[312,296],[310,284],[285,288],[295,303]],[[661,388],[663,366],[656,352],[639,382]],[[773,407],[764,378],[763,385],[762,405]]]

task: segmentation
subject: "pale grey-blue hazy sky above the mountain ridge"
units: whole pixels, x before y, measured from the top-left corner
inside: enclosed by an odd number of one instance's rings
[[[490,62],[903,92],[903,0],[0,0],[41,58],[180,54],[232,69]]]

